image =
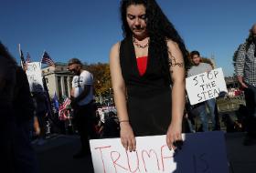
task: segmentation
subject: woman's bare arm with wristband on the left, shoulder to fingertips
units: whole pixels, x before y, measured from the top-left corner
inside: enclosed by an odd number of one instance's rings
[[[117,108],[117,115],[120,122],[120,137],[123,147],[126,150],[135,150],[135,137],[133,135],[133,129],[129,123],[129,116],[126,107],[126,87],[124,84],[120,58],[119,58],[120,43],[112,46],[110,53],[110,69],[112,76],[112,88],[114,94],[114,102]]]

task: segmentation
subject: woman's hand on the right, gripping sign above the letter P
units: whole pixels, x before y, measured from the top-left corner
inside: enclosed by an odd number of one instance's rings
[[[181,145],[183,144],[181,131],[181,124],[171,123],[171,125],[168,127],[166,134],[166,144],[169,149],[173,148],[176,150],[176,148],[181,148]]]

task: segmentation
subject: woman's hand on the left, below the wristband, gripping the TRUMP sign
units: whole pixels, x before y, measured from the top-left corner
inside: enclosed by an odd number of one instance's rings
[[[133,134],[133,128],[129,122],[121,122],[120,128],[120,137],[123,148],[125,148],[126,151],[134,151],[136,149],[136,140]]]

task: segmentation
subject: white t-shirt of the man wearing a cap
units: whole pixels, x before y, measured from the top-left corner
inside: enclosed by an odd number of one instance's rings
[[[74,76],[72,80],[72,87],[74,88],[74,97],[79,97],[84,90],[84,86],[91,86],[87,97],[84,97],[78,103],[80,106],[87,105],[93,99],[93,76],[90,72],[83,70],[80,76]]]

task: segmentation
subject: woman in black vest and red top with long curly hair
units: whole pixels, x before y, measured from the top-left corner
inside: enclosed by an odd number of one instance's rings
[[[187,49],[155,0],[122,0],[123,41],[112,46],[110,66],[120,136],[126,150],[135,137],[165,135],[181,141]]]

